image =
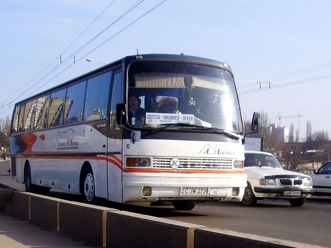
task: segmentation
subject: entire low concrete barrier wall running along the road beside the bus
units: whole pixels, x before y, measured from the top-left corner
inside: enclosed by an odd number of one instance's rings
[[[15,217],[108,248],[322,248],[27,192],[13,191],[11,204]]]

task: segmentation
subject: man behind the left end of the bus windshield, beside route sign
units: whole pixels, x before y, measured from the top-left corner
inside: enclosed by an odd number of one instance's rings
[[[140,107],[141,101],[137,96],[129,97],[128,118],[133,126],[144,126],[146,120],[146,110]]]

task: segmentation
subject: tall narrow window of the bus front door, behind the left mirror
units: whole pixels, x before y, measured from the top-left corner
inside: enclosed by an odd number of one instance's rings
[[[110,104],[110,130],[119,130],[119,126],[116,123],[116,104],[122,103],[122,72],[114,74],[113,88]]]

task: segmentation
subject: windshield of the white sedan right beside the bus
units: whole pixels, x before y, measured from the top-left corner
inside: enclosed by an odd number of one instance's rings
[[[261,153],[245,153],[245,167],[249,166],[271,166],[283,169],[275,156]]]

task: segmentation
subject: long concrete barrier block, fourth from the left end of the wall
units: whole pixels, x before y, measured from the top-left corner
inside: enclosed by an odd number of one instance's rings
[[[107,213],[108,248],[193,248],[194,229],[204,227],[125,211]]]

